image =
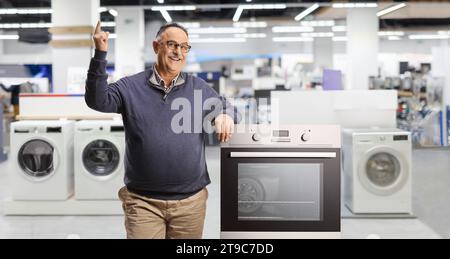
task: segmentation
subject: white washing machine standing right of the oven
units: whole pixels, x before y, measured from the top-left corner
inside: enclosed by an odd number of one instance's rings
[[[411,214],[411,134],[343,131],[344,199],[355,214]]]

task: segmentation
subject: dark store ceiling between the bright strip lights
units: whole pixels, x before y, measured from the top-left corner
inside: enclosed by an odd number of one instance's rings
[[[236,8],[232,5],[245,4],[245,0],[165,0],[168,5],[210,5],[217,8],[197,9],[195,11],[177,11],[171,12],[171,16],[175,21],[192,21],[192,20],[230,20],[236,12]],[[272,19],[290,19],[293,20],[297,14],[305,9],[302,4],[308,6],[309,3],[331,3],[333,1],[301,1],[301,0],[253,0],[252,4],[257,3],[288,3],[296,5],[284,10],[245,10],[241,16],[242,20],[251,18],[272,18]],[[334,1],[342,2],[342,1]],[[347,2],[347,1],[344,1]],[[348,2],[368,2],[366,1],[348,1]],[[377,2],[377,1],[371,1]],[[381,29],[414,29],[414,28],[435,28],[450,26],[450,3],[449,1],[427,1],[427,3],[410,2],[407,7],[382,17],[380,22]],[[423,2],[423,1],[422,1]],[[380,3],[380,9],[392,5],[392,2],[384,1]],[[151,6],[159,5],[157,0],[101,0],[102,6]],[[228,8],[219,8],[219,5],[226,5]],[[51,0],[0,0],[0,8],[49,8]],[[233,7],[233,8],[231,8]],[[315,13],[316,19],[344,19],[345,9],[335,9],[330,7],[321,7]],[[145,11],[147,21],[163,20],[159,12],[151,10]],[[102,13],[102,20],[113,21],[114,17],[108,12]],[[35,22],[51,22],[51,15],[0,15],[0,23],[35,23]]]

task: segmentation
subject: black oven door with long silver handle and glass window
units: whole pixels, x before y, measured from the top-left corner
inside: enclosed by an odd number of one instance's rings
[[[339,232],[340,150],[223,148],[221,230]]]

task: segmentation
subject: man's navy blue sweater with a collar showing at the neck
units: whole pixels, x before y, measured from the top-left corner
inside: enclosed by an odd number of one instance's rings
[[[184,83],[174,86],[169,93],[151,83],[152,70],[108,85],[106,64],[106,52],[97,51],[90,63],[85,99],[94,110],[123,116],[125,185],[139,194],[163,200],[187,198],[207,186],[211,181],[205,160],[205,132],[199,123],[203,124],[206,116],[215,118],[220,113],[229,114],[237,122],[240,118],[236,109],[205,81],[186,73],[180,75]],[[195,90],[197,99],[201,93],[201,104],[194,103]],[[200,120],[191,116],[191,128],[200,127],[200,132],[179,133],[172,129],[172,120],[180,116],[181,110],[171,108],[174,100],[189,100],[190,104],[184,108],[194,111],[212,97],[226,106],[219,112],[201,110]],[[181,121],[180,124],[186,123],[184,119]]]

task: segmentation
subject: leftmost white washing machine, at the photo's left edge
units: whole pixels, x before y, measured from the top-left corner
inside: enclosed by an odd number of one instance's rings
[[[73,194],[71,121],[11,124],[11,179],[14,200],[66,200]]]

